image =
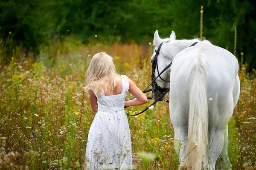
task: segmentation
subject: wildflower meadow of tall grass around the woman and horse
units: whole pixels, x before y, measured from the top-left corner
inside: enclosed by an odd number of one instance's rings
[[[19,48],[9,65],[0,66],[0,169],[81,170],[87,135],[95,113],[82,91],[90,58],[105,51],[116,70],[143,90],[151,81],[151,45],[81,45],[75,40],[42,47],[39,57],[25,59]],[[239,71],[241,92],[229,123],[228,153],[234,170],[256,169],[256,72]],[[147,94],[150,96],[150,94]],[[127,98],[131,98],[128,95]],[[137,113],[150,105],[130,107]],[[179,167],[169,105],[128,116],[133,164],[137,170]],[[140,153],[152,153],[149,164]],[[154,155],[154,156],[153,156]],[[217,168],[219,160],[217,161]]]

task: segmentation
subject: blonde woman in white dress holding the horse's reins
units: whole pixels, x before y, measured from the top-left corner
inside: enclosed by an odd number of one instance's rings
[[[131,79],[116,74],[113,58],[104,52],[93,56],[86,75],[85,89],[97,113],[89,130],[85,168],[132,169],[131,135],[124,107],[143,105],[147,97]],[[125,101],[128,91],[136,99]]]

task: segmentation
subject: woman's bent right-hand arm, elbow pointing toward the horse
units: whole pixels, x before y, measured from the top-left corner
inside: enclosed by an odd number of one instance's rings
[[[133,100],[125,101],[125,107],[143,105],[148,102],[147,96],[129,79],[129,92],[136,97]]]

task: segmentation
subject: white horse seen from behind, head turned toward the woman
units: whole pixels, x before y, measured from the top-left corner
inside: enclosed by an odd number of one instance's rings
[[[175,139],[182,137],[185,146],[175,143],[180,168],[214,170],[220,156],[221,168],[231,169],[227,124],[239,99],[238,61],[229,51],[207,40],[175,39],[173,31],[166,39],[155,31],[156,50],[151,62],[157,62],[159,69],[153,69],[158,88],[170,87],[169,109]],[[191,46],[194,42],[198,43]],[[171,68],[157,77],[171,62]],[[154,98],[160,95],[155,92]]]

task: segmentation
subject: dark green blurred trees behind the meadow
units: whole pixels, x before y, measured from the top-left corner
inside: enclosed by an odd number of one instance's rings
[[[4,49],[22,45],[38,51],[60,36],[72,34],[81,42],[95,35],[103,43],[153,40],[172,30],[178,39],[199,37],[200,7],[204,6],[203,35],[233,53],[237,28],[237,55],[256,68],[255,0],[1,0],[0,39]],[[6,55],[8,56],[8,55]]]

